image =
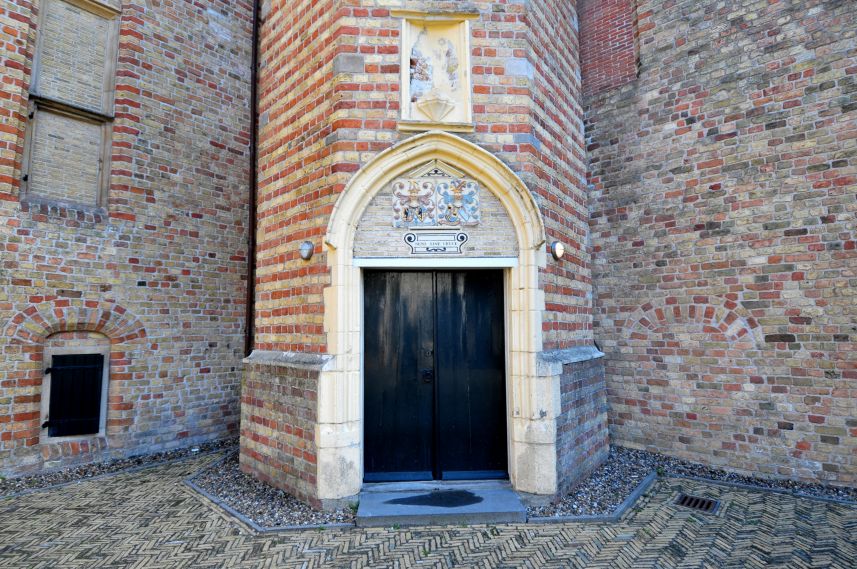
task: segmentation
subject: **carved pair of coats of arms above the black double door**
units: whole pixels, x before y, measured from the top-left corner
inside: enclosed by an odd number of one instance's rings
[[[438,161],[399,178],[393,188],[393,227],[479,225],[479,184]]]

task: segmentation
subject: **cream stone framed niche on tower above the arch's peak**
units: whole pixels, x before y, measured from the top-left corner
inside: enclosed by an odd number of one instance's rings
[[[472,131],[469,21],[478,12],[392,14],[402,18],[399,129]]]

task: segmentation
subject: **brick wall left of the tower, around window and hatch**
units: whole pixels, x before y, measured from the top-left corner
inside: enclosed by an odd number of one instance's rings
[[[0,5],[0,471],[237,432],[250,12],[123,4],[107,203],[74,209],[21,195],[37,13]],[[40,445],[44,346],[76,330],[111,342],[106,437]]]

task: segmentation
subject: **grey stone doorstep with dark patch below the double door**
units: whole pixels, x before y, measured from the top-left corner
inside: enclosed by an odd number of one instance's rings
[[[357,509],[360,527],[525,521],[527,510],[505,481],[366,484]]]

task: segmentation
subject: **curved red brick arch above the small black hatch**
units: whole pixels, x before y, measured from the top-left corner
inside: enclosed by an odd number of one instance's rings
[[[3,335],[13,343],[41,344],[52,334],[72,331],[98,332],[113,344],[146,337],[140,320],[119,304],[69,299],[28,307],[9,320]]]

